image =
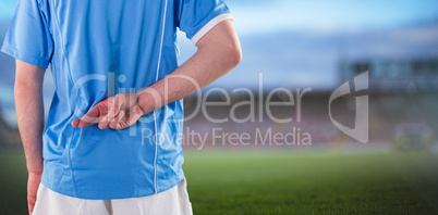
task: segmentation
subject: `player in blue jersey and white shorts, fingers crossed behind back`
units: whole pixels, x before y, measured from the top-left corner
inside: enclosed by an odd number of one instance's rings
[[[1,50],[16,59],[29,213],[191,214],[182,98],[240,63],[231,20],[222,0],[19,0]],[[181,66],[178,28],[197,47]]]

